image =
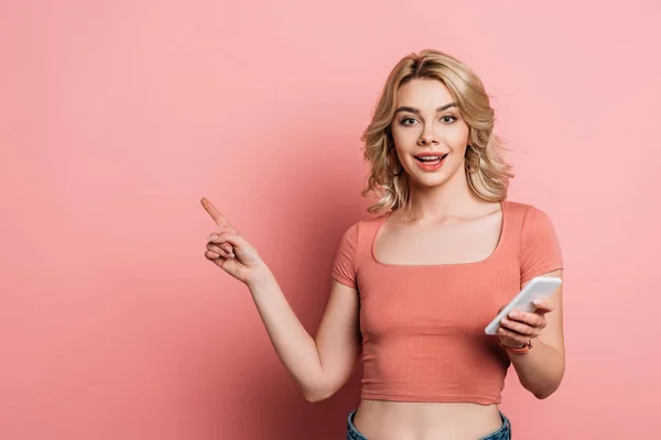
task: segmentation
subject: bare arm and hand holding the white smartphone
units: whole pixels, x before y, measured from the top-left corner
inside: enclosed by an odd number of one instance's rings
[[[543,276],[562,278],[562,270]],[[525,284],[523,284],[524,286]],[[521,286],[521,287],[523,287]],[[565,351],[562,320],[562,285],[537,304],[534,312],[514,310],[501,321],[498,338],[505,346],[519,349],[531,341],[532,349],[524,353],[508,351],[521,385],[537,398],[553,394],[565,371]]]

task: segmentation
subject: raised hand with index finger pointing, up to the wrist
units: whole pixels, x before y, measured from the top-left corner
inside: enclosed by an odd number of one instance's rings
[[[225,216],[208,199],[203,197],[201,202],[220,228],[218,232],[212,232],[207,237],[204,256],[247,285],[257,283],[268,274],[268,268],[254,248],[239,234]]]

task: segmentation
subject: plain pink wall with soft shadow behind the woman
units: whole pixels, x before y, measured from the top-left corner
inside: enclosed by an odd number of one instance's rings
[[[360,133],[425,47],[483,77],[510,198],[563,244],[566,376],[539,402],[510,371],[516,437],[658,435],[659,2],[326,3],[2,2],[0,438],[343,438],[358,372],[303,400],[247,289],[204,260],[198,199],[314,333],[367,216]]]

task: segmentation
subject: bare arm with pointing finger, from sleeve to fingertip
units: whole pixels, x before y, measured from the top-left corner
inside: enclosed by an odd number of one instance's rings
[[[334,395],[350,377],[360,353],[358,292],[333,279],[313,339],[257,251],[207,199],[202,205],[221,230],[207,239],[207,260],[248,286],[278,356],[305,399],[319,402]]]

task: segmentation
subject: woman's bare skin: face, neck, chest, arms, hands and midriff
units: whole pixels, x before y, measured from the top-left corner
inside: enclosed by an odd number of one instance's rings
[[[477,197],[465,176],[469,128],[447,88],[433,79],[400,87],[391,132],[397,160],[410,176],[411,205],[387,219],[375,240],[377,260],[390,264],[448,264],[486,258],[500,235],[500,205]],[[427,172],[415,154],[447,154]],[[333,280],[316,338],[303,328],[275,278],[257,251],[206,199],[203,206],[220,228],[207,238],[205,256],[246,283],[273,346],[310,402],[335,394],[350,377],[360,353],[358,293]],[[470,238],[470,245],[460,238]],[[562,277],[562,272],[546,274]],[[523,287],[523,286],[521,286]],[[505,306],[505,305],[503,305]],[[522,386],[538,398],[550,396],[564,374],[562,288],[531,314],[502,320],[500,341],[527,354],[509,354]],[[472,403],[394,403],[362,399],[355,418],[370,440],[474,440],[500,428],[496,405]]]

